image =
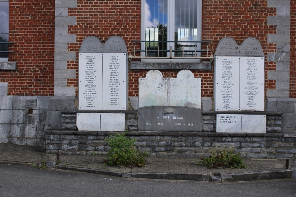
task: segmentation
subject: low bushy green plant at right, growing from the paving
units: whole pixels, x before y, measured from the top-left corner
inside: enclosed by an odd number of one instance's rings
[[[198,165],[206,165],[213,169],[215,167],[247,168],[244,165],[241,154],[234,154],[233,148],[214,149],[209,157],[201,157],[196,161]]]

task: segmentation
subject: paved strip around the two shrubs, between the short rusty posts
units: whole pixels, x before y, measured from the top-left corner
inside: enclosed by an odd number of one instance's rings
[[[118,172],[170,172],[185,174],[212,174],[236,173],[236,172],[260,172],[270,170],[283,170],[285,159],[244,159],[246,169],[219,168],[209,169],[194,164],[196,158],[192,157],[148,157],[146,167],[119,167],[104,166],[104,155],[60,155],[61,165],[84,167],[91,169],[110,170]],[[292,164],[292,159],[290,160]]]

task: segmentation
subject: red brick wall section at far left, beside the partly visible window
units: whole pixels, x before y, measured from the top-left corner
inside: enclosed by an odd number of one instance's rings
[[[9,1],[9,61],[17,70],[0,70],[9,95],[54,94],[54,0]]]

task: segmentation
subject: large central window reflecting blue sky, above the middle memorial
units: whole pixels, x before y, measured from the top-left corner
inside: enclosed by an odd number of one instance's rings
[[[170,50],[170,46],[172,46],[172,50],[183,51],[184,49],[184,57],[200,56],[200,53],[194,52],[201,50],[200,43],[184,41],[201,40],[201,6],[201,0],[142,0],[141,40],[180,42],[141,43],[141,50],[146,50],[146,48],[153,50],[147,52],[147,56],[157,57],[159,47],[159,56],[168,57],[170,52],[167,52],[167,50]],[[146,56],[146,51],[142,52],[141,56]],[[172,52],[172,56],[182,57],[183,53]],[[142,59],[142,61],[172,60]]]

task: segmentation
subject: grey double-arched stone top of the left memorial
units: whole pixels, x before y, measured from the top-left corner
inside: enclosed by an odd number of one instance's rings
[[[84,38],[79,53],[127,53],[126,43],[120,36],[111,36],[105,43],[99,38],[88,36]]]

